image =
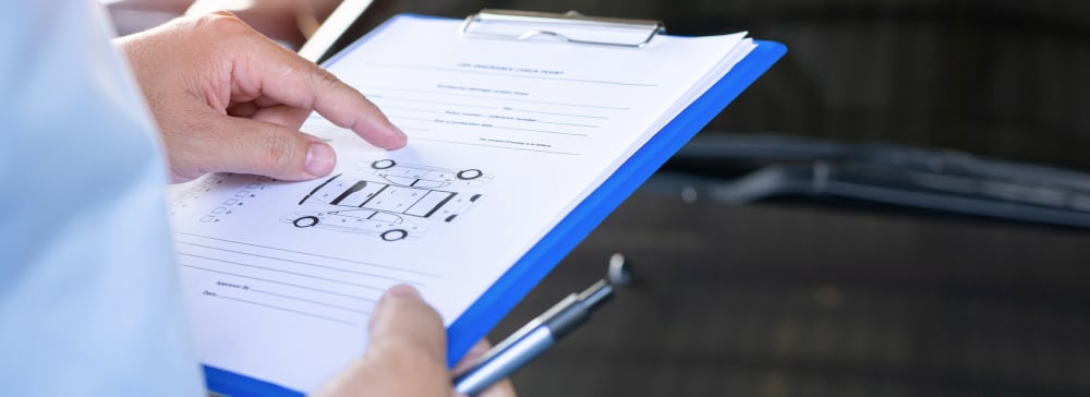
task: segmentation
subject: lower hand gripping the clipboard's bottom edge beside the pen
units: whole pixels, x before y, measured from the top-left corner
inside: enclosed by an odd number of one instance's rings
[[[439,314],[408,286],[390,288],[371,316],[371,340],[356,360],[314,396],[455,396],[447,371],[447,336]],[[475,346],[463,363],[476,361],[488,350]],[[458,368],[456,366],[456,368]],[[507,380],[481,396],[514,396]]]

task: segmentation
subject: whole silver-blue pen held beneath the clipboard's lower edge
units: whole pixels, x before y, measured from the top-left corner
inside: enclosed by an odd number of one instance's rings
[[[488,350],[472,368],[455,376],[455,392],[476,396],[492,384],[514,373],[531,360],[579,328],[613,296],[609,281],[600,280],[580,293],[571,293],[552,309],[522,326]]]

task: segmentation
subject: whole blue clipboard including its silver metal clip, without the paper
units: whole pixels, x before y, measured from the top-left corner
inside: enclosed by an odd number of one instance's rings
[[[421,16],[421,15],[413,15]],[[431,16],[423,16],[431,17]],[[500,23],[516,26],[511,31],[477,31],[482,23]],[[602,41],[585,39],[572,32],[580,28],[631,31],[632,40]],[[642,48],[654,36],[664,34],[657,21],[598,19],[568,14],[529,13],[520,11],[483,10],[465,19],[461,34],[481,39],[557,39],[571,45],[603,45]],[[365,39],[364,39],[365,40]],[[363,40],[346,48],[351,51]],[[556,267],[598,224],[630,196],[667,159],[677,153],[704,125],[715,118],[738,95],[760,77],[786,52],[783,44],[754,40],[756,47],[724,77],[682,110],[674,120],[650,139],[639,151],[607,178],[596,190],[579,203],[559,224],[549,230],[514,265],[500,276],[448,328],[447,360],[453,364],[488,330],[491,330],[519,301]],[[339,56],[324,63],[336,63]],[[222,369],[203,365],[208,389],[232,396],[302,396],[303,394],[276,384],[251,378]]]

